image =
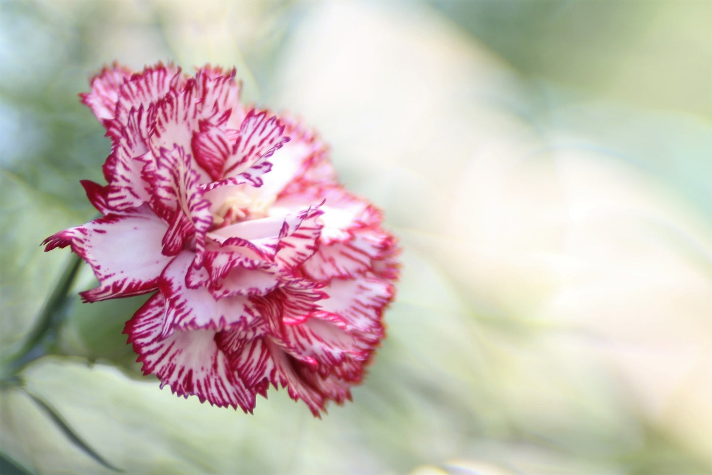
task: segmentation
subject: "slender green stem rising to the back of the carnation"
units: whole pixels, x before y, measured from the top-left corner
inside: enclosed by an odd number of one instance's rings
[[[56,333],[59,323],[63,320],[67,294],[77,276],[81,263],[82,260],[79,256],[72,254],[24,343],[19,350],[7,358],[6,365],[4,365],[6,369],[5,377],[16,375],[29,362],[45,355],[49,335]]]

